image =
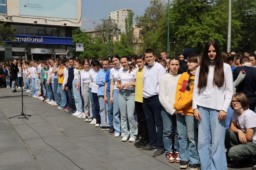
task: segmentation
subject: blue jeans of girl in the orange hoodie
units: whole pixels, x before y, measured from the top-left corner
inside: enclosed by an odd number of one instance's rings
[[[177,113],[177,129],[179,133],[180,160],[199,163],[197,152],[197,120],[194,116]]]

